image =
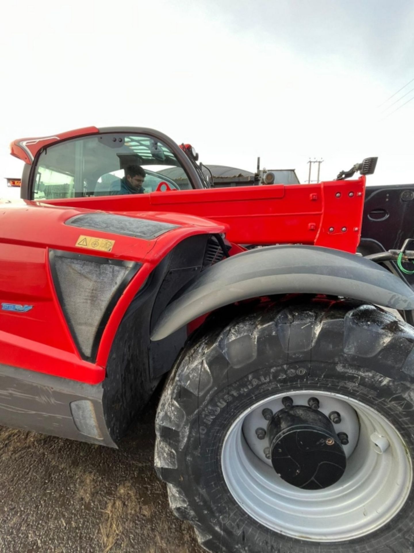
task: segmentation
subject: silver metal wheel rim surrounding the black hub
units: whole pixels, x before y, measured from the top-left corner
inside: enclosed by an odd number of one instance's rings
[[[344,413],[335,430],[347,431],[347,468],[333,486],[302,490],[280,478],[263,453],[258,422],[289,395],[295,404],[316,397],[320,410]],[[309,390],[274,395],[254,404],[233,423],[224,440],[221,467],[230,493],[253,519],[270,530],[309,541],[345,541],[378,530],[400,511],[412,484],[408,449],[378,411],[352,398]]]

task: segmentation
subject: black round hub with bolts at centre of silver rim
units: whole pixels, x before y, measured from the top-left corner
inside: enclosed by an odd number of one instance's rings
[[[267,435],[273,468],[293,486],[327,488],[345,472],[342,444],[320,411],[304,405],[281,409],[269,421]]]

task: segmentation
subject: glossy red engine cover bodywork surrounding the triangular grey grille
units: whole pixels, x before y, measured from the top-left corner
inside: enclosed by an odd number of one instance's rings
[[[162,216],[159,213],[129,213],[179,225],[153,240],[65,225],[65,221],[82,213],[87,211],[29,201],[24,205],[2,207],[0,302],[33,305],[34,308],[20,313],[0,311],[0,363],[95,384],[104,378],[116,329],[151,271],[183,239],[200,233],[222,233],[226,228],[220,223],[174,213]],[[77,248],[81,234],[114,240],[112,251]],[[49,249],[142,263],[112,311],[96,363],[82,360],[68,330],[51,278]]]

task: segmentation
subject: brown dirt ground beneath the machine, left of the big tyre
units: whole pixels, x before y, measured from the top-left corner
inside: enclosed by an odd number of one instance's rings
[[[154,418],[119,450],[0,426],[0,552],[202,553],[153,469]]]

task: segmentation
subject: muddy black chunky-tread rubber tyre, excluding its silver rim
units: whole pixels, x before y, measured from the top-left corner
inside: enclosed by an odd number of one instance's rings
[[[155,466],[177,517],[213,552],[412,553],[410,483],[399,512],[375,531],[341,541],[301,539],[267,528],[241,507],[224,478],[222,448],[237,418],[258,401],[320,390],[388,420],[411,466],[414,328],[372,305],[327,299],[218,321],[220,314],[183,351],[158,406]]]

